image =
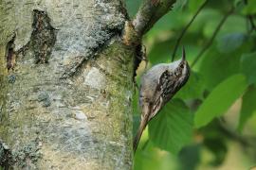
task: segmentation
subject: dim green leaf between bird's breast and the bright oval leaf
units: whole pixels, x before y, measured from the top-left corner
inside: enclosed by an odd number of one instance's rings
[[[194,98],[203,98],[203,92],[205,90],[205,82],[203,81],[203,77],[191,71],[191,76],[186,83],[186,85],[181,88],[181,90],[174,95],[175,98],[182,99],[194,99]]]

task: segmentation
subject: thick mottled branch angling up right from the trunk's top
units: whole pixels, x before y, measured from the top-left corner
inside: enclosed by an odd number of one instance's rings
[[[175,0],[143,0],[133,21],[135,30],[142,37],[174,5]]]

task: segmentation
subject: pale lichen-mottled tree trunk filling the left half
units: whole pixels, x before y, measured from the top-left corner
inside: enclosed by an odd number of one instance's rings
[[[0,166],[131,169],[119,0],[0,0]]]

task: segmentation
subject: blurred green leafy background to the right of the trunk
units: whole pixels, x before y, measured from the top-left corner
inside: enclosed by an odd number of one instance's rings
[[[126,0],[131,18],[140,2]],[[172,60],[183,29],[205,2],[177,0],[144,36],[149,67]],[[144,131],[136,170],[237,170],[256,165],[255,24],[255,0],[207,1],[174,56],[180,58],[184,45],[191,77]],[[143,66],[137,70],[138,84],[143,71]],[[140,117],[137,97],[134,134]]]

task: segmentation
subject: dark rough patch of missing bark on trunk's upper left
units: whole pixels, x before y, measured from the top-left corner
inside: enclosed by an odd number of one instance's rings
[[[13,69],[16,58],[21,54],[25,56],[27,51],[33,53],[32,56],[36,64],[47,63],[51,56],[57,39],[57,29],[51,26],[50,18],[46,14],[46,11],[34,9],[32,16],[32,32],[29,42],[15,51],[16,32],[13,32],[11,40],[7,43],[5,56],[8,70]]]

